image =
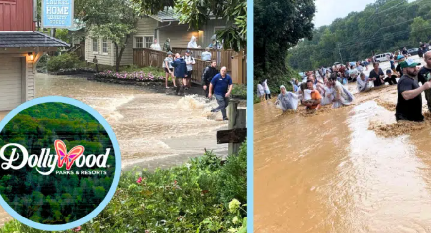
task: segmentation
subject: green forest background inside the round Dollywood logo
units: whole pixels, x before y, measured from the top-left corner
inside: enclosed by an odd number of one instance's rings
[[[75,106],[45,103],[23,110],[1,131],[0,146],[19,143],[27,148],[29,155],[40,155],[42,148],[50,148],[50,155],[55,155],[57,139],[63,140],[68,150],[84,146],[84,155],[105,154],[105,149],[111,148],[107,160],[110,167],[72,166],[75,174],[56,174],[55,171],[66,171],[63,166],[56,167],[50,175],[41,175],[27,165],[19,170],[0,170],[3,199],[21,216],[35,222],[61,224],[80,219],[99,205],[112,184],[115,157],[111,140],[93,116]],[[8,147],[5,156],[11,153]],[[22,159],[20,156],[14,165],[21,164]],[[49,167],[38,169],[50,171]],[[106,174],[81,173],[90,170],[105,170]]]

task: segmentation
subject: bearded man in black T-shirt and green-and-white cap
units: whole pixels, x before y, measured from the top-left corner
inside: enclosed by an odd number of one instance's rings
[[[417,75],[416,66],[413,59],[407,59],[401,62],[401,68],[404,75],[399,79],[398,100],[395,108],[395,119],[407,121],[423,121],[422,115],[422,95],[421,93],[431,88],[431,82],[427,81],[424,85],[419,86],[414,77]]]

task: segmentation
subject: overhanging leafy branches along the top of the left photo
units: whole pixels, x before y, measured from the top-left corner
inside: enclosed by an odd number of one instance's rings
[[[226,20],[226,29],[217,32],[224,48],[239,51],[246,47],[247,41],[247,2],[246,0],[132,0],[139,5],[139,11],[155,15],[166,7],[174,7],[180,23],[189,28],[201,30],[216,16]],[[232,24],[229,24],[231,22]]]

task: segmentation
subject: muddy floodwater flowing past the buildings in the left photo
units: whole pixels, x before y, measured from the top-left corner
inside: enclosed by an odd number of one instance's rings
[[[134,166],[172,167],[203,155],[204,148],[227,155],[227,144],[216,143],[216,131],[227,129],[227,122],[220,112],[209,114],[218,106],[216,100],[206,103],[196,95],[179,97],[137,86],[38,73],[36,96],[53,95],[82,101],[108,121],[120,145],[123,171]],[[6,114],[0,112],[0,119]],[[0,226],[10,219],[0,207]]]

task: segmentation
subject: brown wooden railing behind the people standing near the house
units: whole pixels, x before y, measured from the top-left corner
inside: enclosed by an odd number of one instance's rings
[[[163,51],[152,50],[149,48],[134,48],[133,49],[133,64],[139,67],[159,67],[162,68],[163,60],[167,57],[167,53]],[[209,61],[195,58],[196,64],[193,65],[192,82],[202,83],[202,72],[208,65]]]

